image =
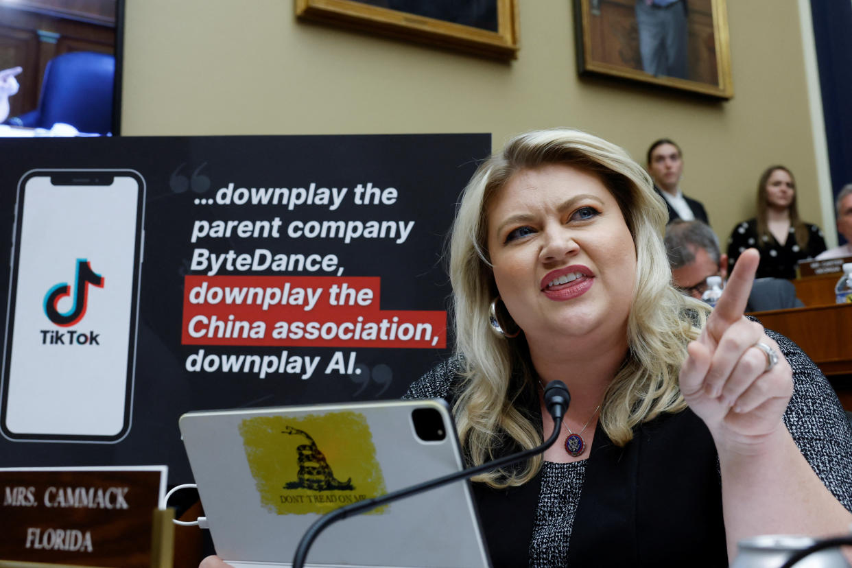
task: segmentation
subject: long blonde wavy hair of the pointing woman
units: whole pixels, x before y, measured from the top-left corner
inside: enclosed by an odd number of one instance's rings
[[[510,387],[513,373],[521,374],[527,388],[537,381],[526,340],[523,334],[502,339],[489,330],[488,307],[498,290],[488,258],[486,211],[513,175],[544,164],[566,164],[597,175],[619,203],[636,245],[629,353],[607,388],[600,416],[616,445],[629,442],[637,424],[685,408],[677,377],[687,343],[699,335],[708,312],[702,302],[672,287],[663,245],[665,204],[648,173],[627,152],[579,130],[515,136],[476,170],[458,204],[450,238],[456,354],[463,376],[453,412],[474,464],[491,460],[507,443],[527,449],[542,441],[540,423],[515,407],[521,391]],[[521,468],[495,470],[475,480],[498,488],[521,485],[541,464],[538,456]]]

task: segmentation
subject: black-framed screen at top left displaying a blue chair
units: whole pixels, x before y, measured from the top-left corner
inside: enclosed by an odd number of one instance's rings
[[[0,70],[21,68],[9,135],[55,123],[118,135],[123,28],[124,0],[0,0]]]

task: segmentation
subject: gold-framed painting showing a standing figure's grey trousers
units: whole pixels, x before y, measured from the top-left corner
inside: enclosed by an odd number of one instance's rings
[[[665,7],[654,4],[657,2],[649,5],[646,0],[574,0],[579,73],[651,83],[717,99],[732,98],[725,0],[675,0]],[[674,57],[679,57],[680,63],[671,67],[666,66],[670,63],[665,56],[663,60],[654,57],[653,43],[661,41],[659,29],[653,35],[648,32],[649,18],[669,15],[676,15],[677,20],[667,20],[666,26],[678,22],[676,26],[681,26],[686,35],[687,46]],[[640,47],[643,38],[644,50]],[[682,45],[683,40],[679,41],[676,44]],[[650,67],[649,72],[645,71],[646,66]]]

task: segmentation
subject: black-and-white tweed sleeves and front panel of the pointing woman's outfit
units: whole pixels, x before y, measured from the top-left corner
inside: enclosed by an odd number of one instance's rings
[[[852,427],[843,407],[826,377],[795,343],[771,330],[767,334],[778,342],[793,370],[793,395],[784,423],[811,468],[843,507],[852,511]],[[446,398],[457,380],[456,369],[458,364],[452,360],[436,366],[412,384],[406,398]],[[585,471],[585,460],[544,462],[530,566],[566,565]]]

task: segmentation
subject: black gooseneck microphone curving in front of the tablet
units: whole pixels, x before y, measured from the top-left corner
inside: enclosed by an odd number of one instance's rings
[[[570,403],[571,395],[568,393],[568,387],[565,386],[565,383],[558,380],[551,381],[547,383],[546,387],[544,387],[544,406],[547,408],[550,417],[553,418],[553,433],[550,434],[550,438],[544,440],[544,444],[529,450],[519,451],[510,456],[498,458],[492,462],[483,463],[475,466],[474,468],[467,468],[455,473],[448,473],[437,479],[429,479],[417,485],[411,485],[410,487],[405,487],[397,491],[391,491],[390,493],[373,497],[372,499],[354,502],[345,507],[325,513],[319,519],[316,519],[313,525],[308,527],[308,531],[305,531],[305,534],[302,536],[302,540],[299,541],[299,545],[296,547],[296,554],[293,557],[293,568],[303,568],[305,560],[308,559],[308,550],[311,548],[311,544],[314,543],[317,536],[320,536],[320,532],[324,531],[325,527],[331,525],[331,523],[337,522],[340,519],[346,519],[347,517],[351,517],[356,514],[366,513],[367,511],[371,511],[385,503],[417,495],[417,493],[423,493],[423,491],[435,489],[435,487],[440,487],[441,485],[458,481],[458,479],[469,478],[477,475],[478,473],[484,473],[491,469],[502,468],[503,466],[508,466],[511,463],[521,462],[521,460],[525,460],[527,457],[544,453],[544,450],[547,450],[551,445],[554,445],[556,439],[559,438],[559,433],[561,432],[562,427],[562,416],[565,416],[565,413],[568,410],[568,404]]]

